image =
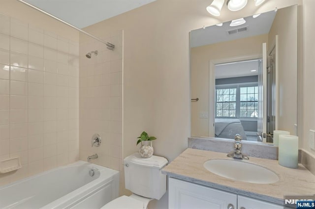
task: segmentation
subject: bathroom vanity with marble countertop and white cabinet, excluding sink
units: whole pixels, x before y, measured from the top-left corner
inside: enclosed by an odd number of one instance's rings
[[[235,160],[224,153],[187,149],[163,169],[169,177],[170,209],[283,209],[285,195],[313,195],[315,191],[315,176],[301,164],[290,169],[277,160],[241,160],[279,177],[275,183],[249,183],[238,181],[237,175],[229,179],[208,171],[204,163],[211,159]]]

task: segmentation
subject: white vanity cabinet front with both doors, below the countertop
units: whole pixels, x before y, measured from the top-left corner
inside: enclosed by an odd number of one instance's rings
[[[169,209],[283,209],[283,206],[169,178]]]

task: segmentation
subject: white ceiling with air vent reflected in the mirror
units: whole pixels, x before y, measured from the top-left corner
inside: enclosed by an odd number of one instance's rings
[[[269,33],[272,23],[276,16],[275,11],[265,12],[256,18],[252,16],[245,17],[246,23],[241,26],[229,26],[231,21],[223,23],[223,26],[208,26],[191,31],[191,47],[199,47],[223,41],[231,41],[240,38],[247,38],[255,35]],[[232,35],[227,34],[227,30],[248,26],[247,32],[236,33]]]

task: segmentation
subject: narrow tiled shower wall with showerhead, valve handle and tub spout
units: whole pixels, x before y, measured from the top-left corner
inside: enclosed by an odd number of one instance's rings
[[[113,43],[115,50],[80,34],[80,159],[97,153],[93,163],[122,171],[123,31],[104,40]],[[85,56],[95,50],[97,56]],[[92,148],[94,133],[101,136],[102,143]],[[122,178],[120,183],[124,185]]]

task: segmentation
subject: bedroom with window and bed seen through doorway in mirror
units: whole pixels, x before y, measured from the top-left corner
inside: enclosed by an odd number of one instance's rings
[[[257,141],[258,67],[261,65],[261,59],[215,65],[216,137],[233,139],[240,134],[243,140]]]

